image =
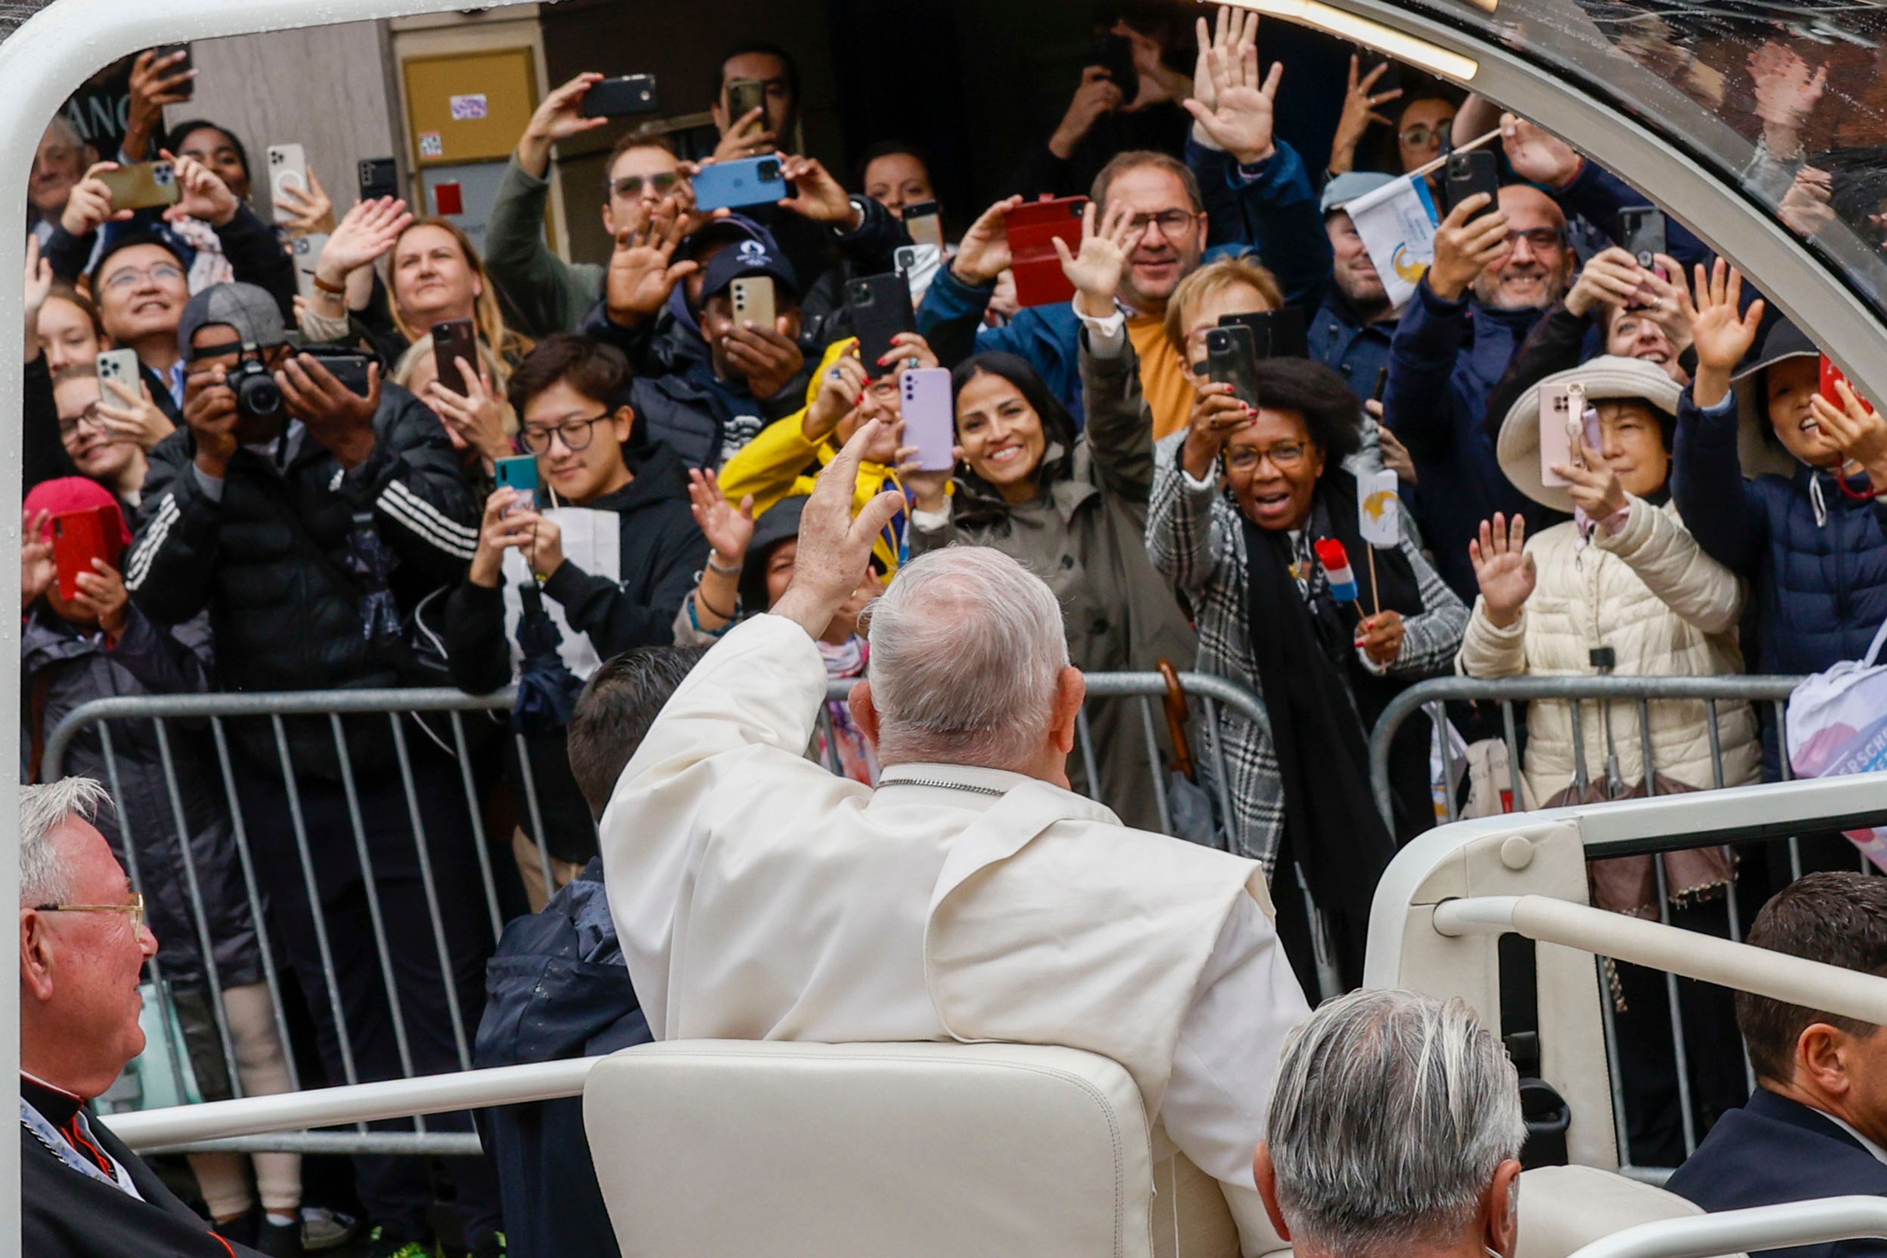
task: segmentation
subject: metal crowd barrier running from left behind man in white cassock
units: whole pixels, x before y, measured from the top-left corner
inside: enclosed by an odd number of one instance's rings
[[[1202,673],[1179,673],[1181,690],[1198,707],[1194,730],[1202,732],[1206,737],[1204,754],[1213,758],[1217,768],[1215,785],[1219,792],[1219,811],[1221,817],[1230,817],[1230,798],[1227,796],[1227,768],[1225,768],[1225,749],[1219,732],[1219,713],[1228,709],[1238,713],[1247,720],[1266,724],[1264,705],[1251,692],[1225,681],[1223,677],[1210,677]],[[834,681],[828,687],[828,700],[843,700],[851,690],[851,681]],[[1161,754],[1161,730],[1164,728],[1162,700],[1168,694],[1166,683],[1161,673],[1091,673],[1087,677],[1089,698],[1094,702],[1138,702],[1140,709],[1140,730],[1145,739],[1147,764],[1153,768],[1151,779],[1159,805],[1161,824],[1172,830],[1172,811],[1168,807],[1166,790],[1166,768]],[[340,983],[336,981],[336,969],[332,962],[332,941],[328,930],[323,922],[321,896],[315,885],[315,866],[311,862],[311,851],[315,845],[330,843],[351,843],[360,869],[364,873],[362,883],[366,888],[368,915],[374,934],[374,956],[379,966],[379,977],[383,988],[391,994],[391,1022],[394,1039],[398,1041],[402,1077],[419,1077],[413,1068],[413,1060],[408,1047],[408,1018],[409,1011],[402,1009],[402,1000],[398,998],[398,985],[394,977],[394,958],[387,939],[385,917],[381,911],[379,894],[376,892],[376,883],[372,877],[372,860],[368,852],[368,839],[364,819],[360,811],[360,796],[357,790],[355,773],[360,768],[359,758],[349,749],[349,730],[360,732],[357,724],[360,719],[383,717],[389,722],[389,732],[392,736],[392,749],[398,768],[398,781],[404,788],[406,815],[411,819],[411,837],[419,858],[419,871],[425,881],[426,909],[430,913],[432,939],[438,949],[440,975],[443,979],[447,994],[447,1015],[451,1018],[453,1041],[457,1045],[459,1069],[472,1069],[472,1041],[476,1037],[476,1020],[466,1017],[466,1011],[459,1007],[455,998],[455,986],[451,981],[451,960],[445,945],[445,926],[442,919],[440,896],[434,888],[434,854],[428,854],[426,837],[421,826],[421,802],[417,798],[415,775],[409,753],[409,741],[415,737],[425,737],[434,741],[442,751],[455,756],[459,766],[459,781],[464,790],[466,813],[470,819],[470,839],[472,854],[477,862],[479,883],[483,886],[483,905],[476,911],[485,919],[491,930],[491,939],[496,941],[504,930],[504,911],[500,909],[498,881],[493,866],[493,845],[487,843],[487,824],[485,824],[485,790],[487,783],[476,781],[472,745],[474,737],[468,732],[468,722],[472,720],[494,720],[502,719],[509,711],[513,702],[513,692],[509,688],[496,690],[493,694],[472,696],[460,690],[449,688],[411,688],[411,690],[308,690],[308,692],[283,692],[283,694],[183,694],[183,696],[126,696],[126,698],[106,698],[83,703],[72,713],[68,713],[53,730],[47,732],[43,749],[43,771],[45,781],[53,781],[62,775],[64,766],[70,758],[74,741],[87,736],[87,732],[96,732],[98,756],[104,766],[106,788],[111,792],[115,803],[125,800],[125,790],[121,788],[121,768],[125,764],[125,747],[121,739],[113,737],[113,730],[123,730],[125,722],[151,722],[155,730],[155,745],[162,768],[164,790],[168,794],[168,824],[177,841],[177,854],[181,868],[187,898],[192,913],[192,926],[198,949],[204,956],[204,979],[208,985],[208,1007],[209,1017],[215,1022],[217,1049],[223,1056],[225,1075],[230,1083],[230,1094],[236,1100],[243,1098],[242,1077],[236,1068],[236,1049],[232,1043],[232,1034],[228,1018],[223,1005],[225,983],[219,975],[215,962],[215,949],[211,939],[209,919],[204,909],[204,900],[198,888],[200,877],[192,858],[189,836],[191,828],[185,817],[183,798],[192,783],[179,779],[179,739],[202,739],[208,736],[213,747],[213,760],[206,756],[206,762],[215,766],[215,773],[221,777],[221,792],[213,790],[213,785],[206,783],[213,794],[217,794],[217,803],[226,811],[230,832],[234,837],[236,856],[242,866],[242,888],[247,898],[247,909],[255,920],[257,947],[260,954],[260,968],[264,981],[268,985],[268,994],[272,1001],[272,1013],[276,1022],[276,1032],[287,1049],[289,1083],[291,1092],[285,1096],[294,1096],[304,1090],[300,1071],[296,1069],[294,1052],[291,1045],[291,1011],[283,1000],[281,975],[276,966],[276,952],[270,947],[270,932],[276,928],[272,917],[264,911],[264,898],[257,879],[255,852],[251,828],[245,826],[242,800],[238,796],[238,773],[243,771],[240,760],[232,756],[232,741],[247,739],[242,751],[249,754],[268,756],[279,764],[281,779],[287,783],[289,817],[294,832],[296,856],[300,860],[300,869],[304,875],[304,888],[309,898],[309,911],[313,917],[315,945],[319,947],[325,969],[326,990],[304,992],[308,1001],[323,1001],[334,1026],[340,1030],[340,1056],[342,1056],[342,1079],[334,1079],[334,1084],[359,1084],[360,1077],[355,1069],[353,1035],[349,1034],[347,1007],[342,998]],[[415,717],[430,715],[425,728],[419,726]],[[309,824],[304,819],[300,805],[302,786],[300,770],[296,764],[296,754],[291,747],[289,719],[325,719],[328,726],[328,737],[332,739],[332,751],[338,758],[342,770],[342,786],[347,798],[347,815],[351,820],[351,834],[311,834]],[[349,717],[351,722],[343,722]],[[232,722],[242,722],[232,728]],[[838,739],[834,737],[834,715],[830,703],[819,709],[819,732],[825,743],[825,762],[827,768],[842,771],[838,758]],[[306,726],[304,726],[306,736]],[[542,809],[538,798],[538,786],[532,773],[530,756],[525,749],[525,739],[521,734],[513,732],[509,724],[504,724],[508,737],[517,739],[517,764],[521,770],[523,800],[517,802],[519,811],[530,822],[530,832],[538,836],[538,866],[543,875],[543,886],[555,890],[557,881],[553,877],[553,864],[549,849],[543,841]],[[260,745],[257,741],[260,739]],[[272,747],[268,745],[272,741]],[[1077,745],[1081,764],[1087,770],[1089,790],[1102,794],[1106,790],[1106,781],[1100,771],[1104,758],[1096,754],[1094,739],[1089,734],[1087,711],[1081,713],[1077,728]],[[385,768],[385,766],[377,766]],[[130,875],[132,886],[143,892],[147,898],[155,894],[155,888],[147,885],[145,871],[140,869],[138,862],[138,843],[134,841],[140,834],[140,826],[149,832],[149,826],[164,826],[164,819],[128,815],[128,809],[119,807],[117,824],[123,837],[123,847],[126,854],[126,873]],[[498,860],[509,858],[509,843],[506,836],[496,837]],[[1306,907],[1315,917],[1315,905],[1310,903],[1308,892]],[[466,905],[451,905],[460,911]],[[449,909],[447,909],[449,911]],[[1327,958],[1325,958],[1327,960]],[[162,952],[149,962],[149,979],[157,992],[157,1009],[164,1028],[179,1028],[177,1018],[177,1000],[175,985],[168,983],[164,977],[164,958]],[[1334,983],[1334,968],[1327,969],[1325,985]],[[1334,986],[1330,992],[1334,994]],[[185,1045],[179,1043],[179,1035],[162,1035],[160,1052],[168,1054],[168,1068],[174,1079],[185,1081],[191,1077],[191,1068],[187,1062]],[[181,1090],[181,1083],[179,1083]],[[215,1101],[211,1101],[215,1103]],[[406,1111],[413,1113],[413,1111]],[[202,1149],[209,1149],[204,1145]],[[415,1117],[411,1132],[385,1132],[368,1130],[359,1124],[353,1132],[274,1132],[268,1135],[240,1135],[228,1141],[217,1141],[215,1149],[260,1152],[260,1150],[287,1150],[287,1152],[402,1152],[402,1154],[464,1154],[477,1150],[477,1135],[468,1132],[445,1132],[426,1128],[423,1117]]]

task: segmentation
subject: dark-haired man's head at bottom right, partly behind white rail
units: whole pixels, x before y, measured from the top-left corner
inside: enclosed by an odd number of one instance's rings
[[[1762,905],[1749,943],[1887,975],[1887,879],[1800,877]],[[1887,1035],[1879,1026],[1753,992],[1736,992],[1736,1024],[1764,1088],[1887,1143]]]

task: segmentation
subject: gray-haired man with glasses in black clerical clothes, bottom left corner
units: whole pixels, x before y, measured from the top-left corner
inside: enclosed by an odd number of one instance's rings
[[[143,1052],[143,898],[91,819],[91,777],[19,788],[21,1252],[249,1258],[91,1113]]]

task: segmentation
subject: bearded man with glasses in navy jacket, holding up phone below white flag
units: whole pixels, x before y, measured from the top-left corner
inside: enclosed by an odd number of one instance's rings
[[[1487,398],[1542,311],[1572,277],[1566,215],[1527,185],[1500,189],[1498,207],[1478,192],[1434,234],[1434,264],[1389,345],[1383,426],[1415,460],[1421,532],[1442,579],[1474,600],[1468,541],[1495,511],[1540,509],[1500,473],[1487,434]],[[1544,522],[1544,521],[1542,521]]]

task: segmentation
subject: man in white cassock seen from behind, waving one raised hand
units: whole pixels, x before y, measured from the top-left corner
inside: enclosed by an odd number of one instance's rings
[[[1308,1017],[1251,860],[1068,790],[1085,683],[1047,585],[985,547],[872,605],[851,709],[877,788],[806,758],[815,649],[887,492],[866,424],[819,475],[791,588],[681,683],[602,817],[610,909],[657,1039],[1011,1041],[1113,1058],[1215,1177],[1245,1252],[1272,1068]]]

